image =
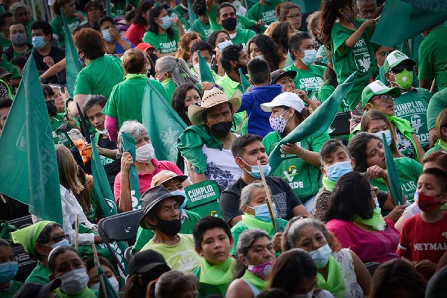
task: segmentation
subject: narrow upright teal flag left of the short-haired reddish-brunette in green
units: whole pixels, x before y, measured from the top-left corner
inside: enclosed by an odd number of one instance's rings
[[[60,13],[62,16],[63,28],[65,32],[70,32],[70,29],[68,29],[67,19],[65,18],[65,13],[63,13],[62,8],[60,9]],[[72,34],[65,34],[65,65],[65,71],[67,73],[67,90],[68,94],[70,94],[70,97],[73,98],[76,77],[82,69],[82,64],[79,60],[78,52],[73,42]]]

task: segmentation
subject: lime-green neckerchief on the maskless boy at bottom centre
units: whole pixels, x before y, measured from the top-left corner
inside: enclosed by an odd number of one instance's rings
[[[233,279],[232,269],[235,263],[236,260],[228,257],[222,264],[211,266],[205,259],[202,259],[199,281],[204,284],[215,285],[220,294],[225,296],[228,285]]]

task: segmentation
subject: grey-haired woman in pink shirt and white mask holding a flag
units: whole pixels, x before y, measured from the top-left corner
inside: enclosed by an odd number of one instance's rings
[[[148,136],[148,130],[137,121],[126,121],[118,132],[118,150],[122,153],[121,172],[115,177],[114,196],[117,206],[123,212],[132,210],[132,196],[129,182],[129,169],[134,164],[129,152],[122,151],[122,133],[127,132],[135,139],[135,167],[138,171],[140,193],[151,188],[153,176],[163,170],[183,175],[181,170],[172,162],[155,159],[154,147]],[[186,180],[187,181],[187,180]],[[188,182],[185,182],[188,183]],[[187,184],[186,184],[187,185]]]

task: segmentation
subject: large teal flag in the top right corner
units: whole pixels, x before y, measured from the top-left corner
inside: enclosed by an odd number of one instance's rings
[[[387,0],[371,41],[396,46],[446,20],[446,0]]]

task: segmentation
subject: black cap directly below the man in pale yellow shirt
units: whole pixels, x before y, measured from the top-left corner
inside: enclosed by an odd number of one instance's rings
[[[166,271],[171,270],[160,252],[152,249],[143,250],[135,253],[129,261],[129,274],[147,273],[158,266],[166,269]]]

